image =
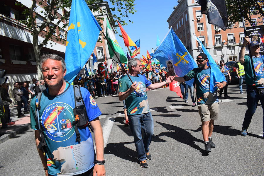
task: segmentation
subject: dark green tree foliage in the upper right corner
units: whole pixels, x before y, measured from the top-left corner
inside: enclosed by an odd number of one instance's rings
[[[260,0],[239,0],[241,4],[241,10],[243,13],[243,17],[245,20],[247,20],[246,24],[248,22],[252,23],[250,14],[258,14],[261,17],[258,17],[259,19],[264,16],[264,12],[262,10],[262,6],[264,6],[264,1]],[[226,10],[228,13],[229,20],[234,24],[237,21],[241,21],[241,15],[238,7],[238,0],[226,0]],[[260,20],[257,20],[260,21]]]

